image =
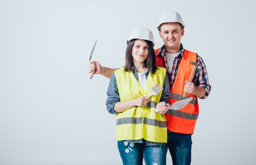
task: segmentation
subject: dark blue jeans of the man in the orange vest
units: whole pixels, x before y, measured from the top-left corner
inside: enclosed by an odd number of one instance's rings
[[[171,153],[173,165],[190,165],[192,148],[191,134],[168,132],[166,146]]]

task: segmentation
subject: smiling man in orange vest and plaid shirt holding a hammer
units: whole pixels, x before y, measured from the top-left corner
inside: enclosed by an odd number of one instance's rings
[[[184,49],[180,43],[184,26],[182,17],[175,11],[162,13],[157,24],[164,45],[155,50],[156,65],[165,67],[169,75],[171,94],[168,101],[172,104],[184,99],[184,92],[188,94],[187,97],[193,98],[182,110],[168,110],[165,114],[168,129],[167,147],[173,165],[190,165],[191,135],[199,114],[198,98],[207,98],[211,90],[202,58],[197,53]],[[192,82],[188,81],[193,69],[190,62],[202,65],[197,67]],[[95,70],[94,74],[110,78],[116,69],[102,67],[99,62],[92,61],[89,73],[91,70]]]

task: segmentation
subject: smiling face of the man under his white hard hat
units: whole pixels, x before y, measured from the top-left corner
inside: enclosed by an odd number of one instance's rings
[[[184,30],[181,30],[179,23],[170,22],[162,24],[159,35],[164,41],[167,53],[178,53],[180,51],[180,40],[184,35]]]

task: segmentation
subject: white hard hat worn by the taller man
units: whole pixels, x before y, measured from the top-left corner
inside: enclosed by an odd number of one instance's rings
[[[176,11],[167,11],[165,13],[162,13],[162,15],[158,20],[157,27],[159,27],[163,23],[168,23],[168,22],[178,22],[182,24],[182,26],[185,26],[180,14],[177,13]]]

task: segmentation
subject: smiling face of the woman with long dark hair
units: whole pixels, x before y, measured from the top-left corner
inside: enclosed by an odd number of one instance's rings
[[[146,41],[137,39],[132,47],[133,62],[144,62],[148,58],[148,44]]]

